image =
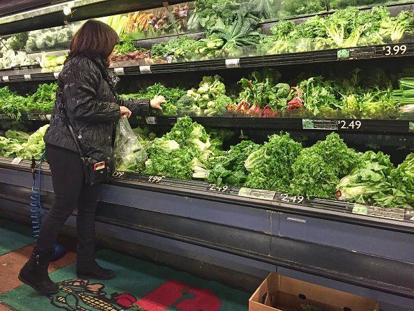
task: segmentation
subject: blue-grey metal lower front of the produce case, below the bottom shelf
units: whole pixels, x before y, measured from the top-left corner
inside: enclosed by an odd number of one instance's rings
[[[42,200],[49,208],[54,195],[47,165],[43,172]],[[0,205],[29,208],[30,162],[1,158],[0,173]],[[413,254],[405,248],[413,222],[356,215],[345,202],[298,204],[240,197],[238,187],[223,192],[199,181],[114,175],[102,187],[98,222],[414,298]],[[385,250],[374,240],[393,243]]]

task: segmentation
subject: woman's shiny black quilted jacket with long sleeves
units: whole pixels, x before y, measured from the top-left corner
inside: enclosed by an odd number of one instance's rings
[[[132,114],[144,114],[150,101],[118,98],[114,87],[119,78],[102,61],[91,56],[68,60],[58,77],[54,116],[45,133],[45,143],[77,152],[66,123],[72,125],[84,156],[112,165],[114,126],[120,116],[119,106]],[[62,159],[64,160],[64,159]]]

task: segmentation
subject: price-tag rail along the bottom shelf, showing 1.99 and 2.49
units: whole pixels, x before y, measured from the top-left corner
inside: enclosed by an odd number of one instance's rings
[[[31,161],[16,161],[17,159],[0,157],[0,167],[31,172]],[[37,169],[38,163],[35,168],[36,172]],[[42,174],[50,175],[49,167],[45,162],[42,165]],[[208,199],[214,202],[232,203],[275,212],[295,212],[298,215],[312,215],[326,220],[340,220],[414,234],[414,213],[403,208],[378,207],[375,208],[375,211],[371,210],[370,215],[361,215],[355,208],[355,204],[351,202],[306,198],[301,195],[250,189],[243,186],[224,185],[218,187],[204,181],[171,179],[166,176],[149,176],[132,172],[115,171],[108,183],[126,188]]]

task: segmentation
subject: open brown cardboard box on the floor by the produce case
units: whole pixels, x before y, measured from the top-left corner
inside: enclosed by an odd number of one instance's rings
[[[249,311],[378,311],[378,301],[270,273],[249,299]],[[309,308],[308,310],[318,310]]]

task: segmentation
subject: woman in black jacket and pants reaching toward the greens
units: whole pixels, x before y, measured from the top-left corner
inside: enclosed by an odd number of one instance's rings
[[[114,126],[120,118],[161,109],[164,97],[124,100],[114,94],[119,78],[107,70],[119,38],[107,24],[89,20],[73,36],[69,57],[58,78],[54,117],[45,134],[46,155],[52,171],[54,205],[40,229],[29,261],[19,279],[43,295],[59,291],[47,267],[52,246],[63,224],[77,208],[77,266],[79,278],[110,279],[114,271],[100,267],[94,256],[95,208],[99,185],[84,183],[82,162],[68,128],[72,126],[86,157],[112,162]]]

